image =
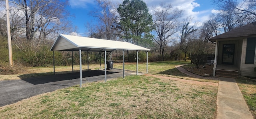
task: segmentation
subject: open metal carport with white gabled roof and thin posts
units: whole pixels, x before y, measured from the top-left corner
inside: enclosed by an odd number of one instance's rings
[[[87,53],[104,51],[105,82],[106,82],[106,79],[107,79],[106,53],[107,52],[112,53],[115,50],[123,50],[123,78],[124,78],[124,50],[137,51],[137,56],[136,56],[136,62],[137,62],[136,74],[137,75],[138,75],[138,51],[146,51],[147,52],[146,72],[148,73],[148,51],[150,51],[150,49],[140,47],[138,45],[134,45],[131,43],[122,42],[122,41],[111,41],[111,40],[104,40],[104,39],[95,39],[95,38],[89,38],[89,37],[79,37],[79,36],[59,34],[58,38],[54,41],[54,44],[50,49],[50,51],[53,51],[54,74],[55,74],[54,51],[72,51],[72,70],[73,70],[73,51],[79,51],[80,87],[82,87],[82,56],[81,56],[82,51],[86,51]]]

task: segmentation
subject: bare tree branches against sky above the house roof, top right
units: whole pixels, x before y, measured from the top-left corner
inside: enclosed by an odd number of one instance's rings
[[[213,3],[219,10],[215,17],[224,32],[256,20],[255,0],[213,0]]]

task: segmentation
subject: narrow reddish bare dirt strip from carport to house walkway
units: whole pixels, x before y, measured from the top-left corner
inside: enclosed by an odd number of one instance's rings
[[[144,74],[146,76],[152,76],[156,78],[163,78],[163,79],[169,79],[169,80],[177,80],[181,82],[191,83],[191,84],[201,84],[201,85],[208,85],[208,86],[218,86],[218,83],[212,83],[212,82],[199,82],[194,80],[186,80],[186,79],[180,79],[180,78],[172,78],[168,76],[158,76],[158,75],[152,75],[152,74]]]

